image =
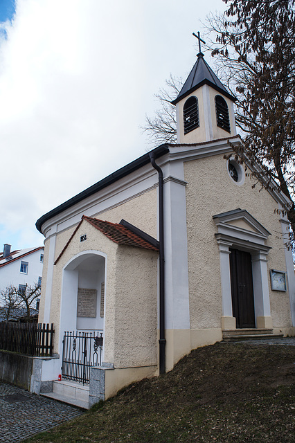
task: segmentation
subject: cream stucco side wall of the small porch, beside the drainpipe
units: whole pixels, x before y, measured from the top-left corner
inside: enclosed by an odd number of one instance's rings
[[[117,249],[116,368],[157,365],[157,258],[157,252],[141,248]]]

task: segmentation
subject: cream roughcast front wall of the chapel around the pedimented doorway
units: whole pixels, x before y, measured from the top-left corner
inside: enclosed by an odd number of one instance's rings
[[[267,239],[267,246],[271,246],[268,271],[286,271],[280,217],[274,214],[278,204],[259,184],[253,189],[255,181],[250,177],[245,177],[244,184],[237,186],[229,177],[222,155],[186,162],[184,170],[188,181],[190,327],[221,327],[220,257],[212,217],[237,208],[246,209],[272,234]],[[274,327],[291,326],[289,293],[271,291],[270,279],[269,298]]]

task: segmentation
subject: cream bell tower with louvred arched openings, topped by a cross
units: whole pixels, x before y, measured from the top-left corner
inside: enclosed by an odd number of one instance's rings
[[[179,96],[172,101],[176,105],[177,143],[202,143],[236,134],[233,111],[236,98],[205,62],[201,51],[204,40],[199,33],[195,37],[199,39],[197,62]]]

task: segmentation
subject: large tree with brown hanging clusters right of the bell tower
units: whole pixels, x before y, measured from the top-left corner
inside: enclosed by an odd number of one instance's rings
[[[212,55],[221,80],[238,100],[241,159],[260,164],[260,183],[274,181],[292,201],[285,208],[295,230],[295,13],[294,0],[223,0],[211,16]]]

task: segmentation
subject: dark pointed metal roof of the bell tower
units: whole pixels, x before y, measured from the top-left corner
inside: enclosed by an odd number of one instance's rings
[[[199,53],[197,55],[197,62],[195,62],[195,66],[190,71],[190,75],[188,75],[184,86],[181,88],[179,96],[172,101],[172,105],[176,105],[182,98],[188,96],[196,89],[199,89],[205,83],[213,87],[216,91],[222,93],[230,100],[233,100],[233,102],[237,100],[234,96],[231,96],[222,82],[218,80],[215,73],[213,73],[211,67],[205,62],[204,54]]]

